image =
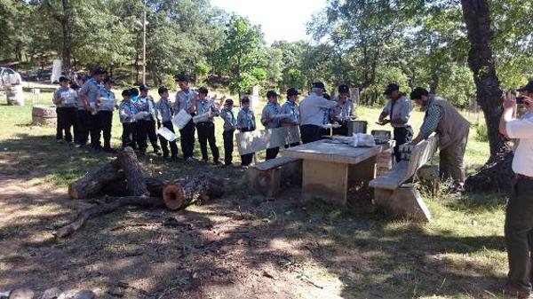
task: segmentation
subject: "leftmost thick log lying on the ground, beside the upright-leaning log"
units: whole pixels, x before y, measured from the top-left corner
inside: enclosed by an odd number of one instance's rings
[[[110,161],[100,169],[87,173],[76,182],[68,185],[68,194],[76,200],[85,200],[98,196],[107,183],[123,178],[123,172],[119,172],[117,160]]]

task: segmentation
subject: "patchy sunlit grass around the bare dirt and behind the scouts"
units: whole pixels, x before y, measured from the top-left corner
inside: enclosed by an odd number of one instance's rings
[[[29,124],[29,99],[33,96],[30,93],[26,96],[26,106],[0,104],[0,161],[4,163],[0,174],[28,176],[37,184],[66,186],[102,161],[112,159],[83,149],[56,145],[54,128]],[[50,97],[50,93],[42,93],[41,103]],[[259,113],[256,111],[258,116]],[[379,113],[378,108],[357,107],[360,118],[369,121],[369,130],[383,129],[374,123]],[[471,122],[479,118],[476,114],[468,116]],[[415,111],[412,125],[416,132],[422,120],[423,113]],[[216,125],[219,149],[223,152],[219,118]],[[113,146],[120,146],[120,135],[121,126],[115,114]],[[195,155],[200,156],[198,145],[195,151]],[[234,155],[238,162],[236,151]],[[467,172],[475,171],[488,156],[489,146],[476,138],[475,130],[471,130],[465,156]],[[163,177],[209,169],[231,181],[237,193],[236,185],[243,175],[242,169],[164,163],[152,153],[141,160],[141,166],[146,173]],[[261,232],[281,230],[282,238],[314,242],[325,252],[324,256],[311,262],[295,254],[290,256],[291,264],[285,263],[282,268],[298,268],[302,273],[308,270],[308,275],[315,279],[338,279],[338,294],[346,298],[489,298],[492,296],[485,289],[505,278],[503,224],[506,199],[501,194],[469,194],[461,200],[452,199],[443,192],[436,196],[424,194],[434,221],[422,225],[380,215],[354,215],[322,203],[302,207],[288,201],[281,208],[263,209],[265,201],[262,198],[245,191],[242,193],[243,200],[235,201],[233,207],[235,210],[241,205],[243,209],[248,207],[244,210],[244,218],[250,220],[251,228]],[[246,211],[254,212],[246,214]],[[109,219],[103,218],[102,224],[111,221]],[[23,231],[20,224],[0,222],[0,240],[23,235]],[[127,244],[116,240],[106,249],[115,253],[125,246]]]

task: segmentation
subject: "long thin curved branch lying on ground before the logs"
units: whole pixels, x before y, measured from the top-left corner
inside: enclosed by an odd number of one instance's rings
[[[56,238],[65,238],[80,229],[84,223],[96,216],[105,215],[113,212],[115,209],[124,206],[134,206],[140,208],[155,208],[163,206],[161,198],[147,197],[147,196],[124,196],[107,199],[109,202],[101,204],[96,207],[85,209],[80,212],[76,220],[70,224],[61,227],[53,235]]]

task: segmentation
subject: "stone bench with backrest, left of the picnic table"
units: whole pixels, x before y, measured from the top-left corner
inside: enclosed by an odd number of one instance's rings
[[[281,127],[236,134],[239,154],[256,153],[300,141],[298,127]],[[243,180],[256,192],[273,197],[280,193],[282,182],[301,184],[301,160],[278,157],[251,165]]]

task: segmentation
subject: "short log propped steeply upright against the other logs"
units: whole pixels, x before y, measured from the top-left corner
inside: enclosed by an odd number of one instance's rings
[[[133,149],[128,146],[118,153],[118,164],[126,178],[128,195],[140,196],[148,193],[147,184],[139,168],[139,161]]]

